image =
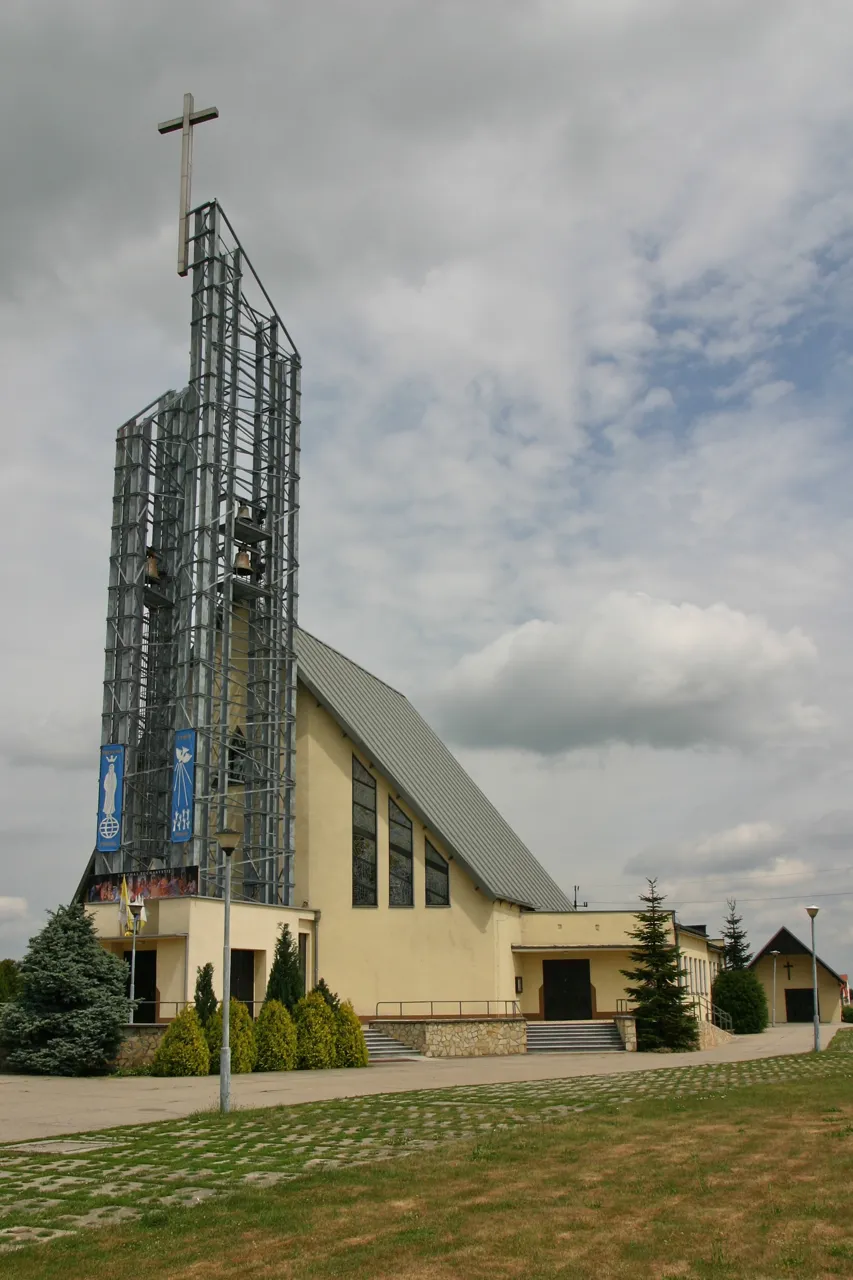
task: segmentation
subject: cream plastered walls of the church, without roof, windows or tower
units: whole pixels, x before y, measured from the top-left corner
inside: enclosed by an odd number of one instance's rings
[[[352,905],[352,759],[377,782],[378,902]],[[254,952],[254,998],[261,1001],[275,938],[287,924],[302,937],[307,986],[323,977],[365,1019],[429,1012],[502,1012],[514,1002],[529,1018],[544,1015],[548,960],[589,963],[593,1018],[625,1011],[630,968],[630,911],[530,911],[494,901],[425,827],[375,763],[346,736],[307,690],[297,701],[296,865],[292,908],[236,902],[232,947]],[[414,833],[414,905],[389,905],[388,801],[409,815]],[[448,860],[450,905],[425,902],[425,840]],[[90,908],[104,945],[119,954],[114,904]],[[222,992],[223,905],[215,899],[151,901],[140,950],[156,948],[158,1019],[192,998],[196,970],[214,964]],[[680,933],[689,986],[710,992],[719,950],[697,933]],[[699,1002],[697,1002],[699,1004]]]

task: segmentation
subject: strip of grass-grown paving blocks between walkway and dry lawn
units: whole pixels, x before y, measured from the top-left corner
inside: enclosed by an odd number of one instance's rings
[[[607,1076],[487,1084],[338,1102],[202,1112],[174,1123],[0,1147],[0,1252],[109,1228],[242,1185],[398,1160],[500,1130],[644,1098],[720,1096],[752,1084],[853,1076],[853,1032],[818,1056]]]

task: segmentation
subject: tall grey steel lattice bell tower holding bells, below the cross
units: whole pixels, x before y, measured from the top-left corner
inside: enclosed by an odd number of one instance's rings
[[[124,745],[122,846],[95,872],[199,867],[242,832],[236,888],[293,897],[298,352],[218,202],[191,212],[190,380],[118,431],[101,741]],[[195,822],[172,841],[174,735]],[[242,876],[241,876],[242,870]]]

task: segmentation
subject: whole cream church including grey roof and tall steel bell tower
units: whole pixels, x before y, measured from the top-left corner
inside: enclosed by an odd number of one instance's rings
[[[229,867],[231,989],[252,1010],[287,925],[306,989],[323,977],[400,1034],[505,1019],[510,1051],[525,1020],[610,1023],[631,1047],[634,914],[574,910],[407,699],[298,628],[301,357],[220,205],[182,200],[190,375],[117,434],[78,890],[117,954],[122,883],[145,901],[137,1020],[174,1018],[207,963],[222,993]],[[710,1023],[720,947],[670,929]]]

